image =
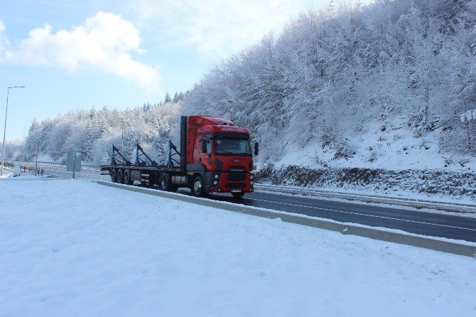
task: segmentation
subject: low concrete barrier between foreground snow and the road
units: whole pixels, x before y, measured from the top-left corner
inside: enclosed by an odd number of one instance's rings
[[[440,252],[453,253],[458,255],[465,255],[467,257],[476,257],[476,245],[470,242],[467,244],[457,243],[445,240],[438,240],[432,237],[425,237],[421,235],[407,234],[404,232],[392,232],[381,230],[378,228],[348,225],[332,220],[325,220],[323,218],[306,217],[292,213],[278,212],[264,208],[249,207],[234,203],[226,203],[217,200],[210,200],[204,198],[196,198],[189,195],[178,193],[168,193],[161,190],[154,190],[151,188],[143,188],[137,186],[128,186],[119,183],[111,183],[107,181],[92,181],[104,186],[114,188],[121,188],[125,190],[134,191],[136,193],[144,193],[147,195],[156,195],[163,198],[171,198],[181,200],[188,203],[195,203],[212,208],[219,208],[223,210],[234,211],[235,213],[243,213],[247,215],[254,215],[257,217],[265,217],[269,219],[281,218],[283,222],[291,222],[298,225],[306,225],[316,227],[324,230],[332,230],[341,232],[344,235],[357,235],[359,237],[368,237],[374,240],[382,240],[386,242],[399,243],[401,245],[411,245],[413,247],[423,247],[425,249],[432,249]]]

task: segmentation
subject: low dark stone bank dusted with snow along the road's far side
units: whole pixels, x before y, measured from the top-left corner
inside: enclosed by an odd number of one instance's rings
[[[264,166],[256,181],[282,186],[339,190],[430,199],[455,203],[476,202],[476,174],[471,171],[386,170],[383,168],[310,168]]]

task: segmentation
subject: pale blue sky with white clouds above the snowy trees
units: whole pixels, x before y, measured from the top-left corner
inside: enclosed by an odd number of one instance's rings
[[[330,2],[0,0],[1,132],[7,94],[7,140],[23,139],[33,118],[158,103]]]

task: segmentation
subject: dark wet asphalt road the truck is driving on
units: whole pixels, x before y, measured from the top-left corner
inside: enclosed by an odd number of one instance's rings
[[[72,177],[72,172],[66,172],[62,166],[41,167],[44,168],[46,174],[52,176]],[[77,178],[110,181],[109,176],[102,176],[99,171],[94,170],[77,172],[76,176]],[[190,191],[188,190],[182,190],[181,193],[190,195]],[[424,213],[417,210],[383,208],[366,204],[336,202],[320,200],[318,198],[303,198],[259,191],[247,193],[244,198],[232,198],[229,194],[212,194],[208,197],[210,199],[230,203],[322,217],[339,222],[357,223],[372,227],[385,227],[416,233],[418,235],[476,242],[476,218]]]

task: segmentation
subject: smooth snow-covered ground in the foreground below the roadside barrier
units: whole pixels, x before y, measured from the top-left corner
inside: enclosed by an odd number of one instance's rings
[[[475,316],[476,261],[80,180],[0,181],[0,316]]]

